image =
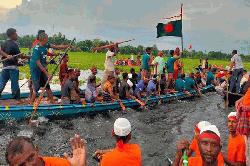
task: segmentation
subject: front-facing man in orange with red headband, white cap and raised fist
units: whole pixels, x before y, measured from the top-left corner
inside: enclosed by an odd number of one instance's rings
[[[188,149],[188,141],[182,140],[177,144],[177,153],[173,166],[179,166],[183,150]],[[224,160],[219,157],[221,152],[220,132],[215,125],[201,129],[198,138],[201,156],[190,157],[188,166],[224,166]]]

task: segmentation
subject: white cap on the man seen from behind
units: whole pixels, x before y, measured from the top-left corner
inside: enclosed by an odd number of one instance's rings
[[[114,123],[114,133],[117,136],[127,136],[131,132],[131,124],[126,118],[118,118]]]

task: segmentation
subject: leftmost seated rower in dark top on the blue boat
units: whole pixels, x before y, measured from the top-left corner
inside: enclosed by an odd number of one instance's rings
[[[73,69],[69,69],[68,78],[62,86],[62,104],[80,104],[81,98],[77,94],[74,80],[76,79],[76,73]]]

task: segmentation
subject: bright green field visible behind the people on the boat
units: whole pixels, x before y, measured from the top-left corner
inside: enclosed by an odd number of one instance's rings
[[[27,52],[27,49],[22,49],[23,52]],[[130,58],[130,55],[117,55],[117,59],[124,59]],[[167,59],[167,57],[166,57]],[[69,67],[71,68],[80,68],[81,70],[87,70],[91,66],[95,65],[98,69],[104,70],[104,61],[105,61],[105,54],[104,53],[88,53],[88,52],[70,52],[69,53]],[[199,65],[199,59],[188,59],[182,58],[184,63],[184,71],[186,73],[195,71],[195,67]],[[209,60],[209,64],[211,65],[223,65],[224,67],[229,64],[229,60]],[[54,66],[49,66],[51,70]],[[245,62],[244,67],[250,71],[250,62]],[[119,66],[118,68],[121,71],[129,71],[130,67],[128,66]],[[138,71],[139,67],[135,67]],[[24,66],[20,68],[22,73],[29,75],[29,67]]]

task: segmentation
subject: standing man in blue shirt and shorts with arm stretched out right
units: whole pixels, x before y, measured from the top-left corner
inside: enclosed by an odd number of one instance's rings
[[[39,34],[39,43],[34,46],[32,58],[30,60],[30,73],[34,88],[31,97],[31,103],[35,101],[37,92],[40,90],[40,88],[45,86],[48,79],[51,79],[51,76],[47,70],[46,62],[48,49],[66,49],[68,47],[70,47],[70,45],[51,45],[48,43],[48,35],[46,33]],[[49,83],[45,88],[50,102],[53,103],[53,96]]]

